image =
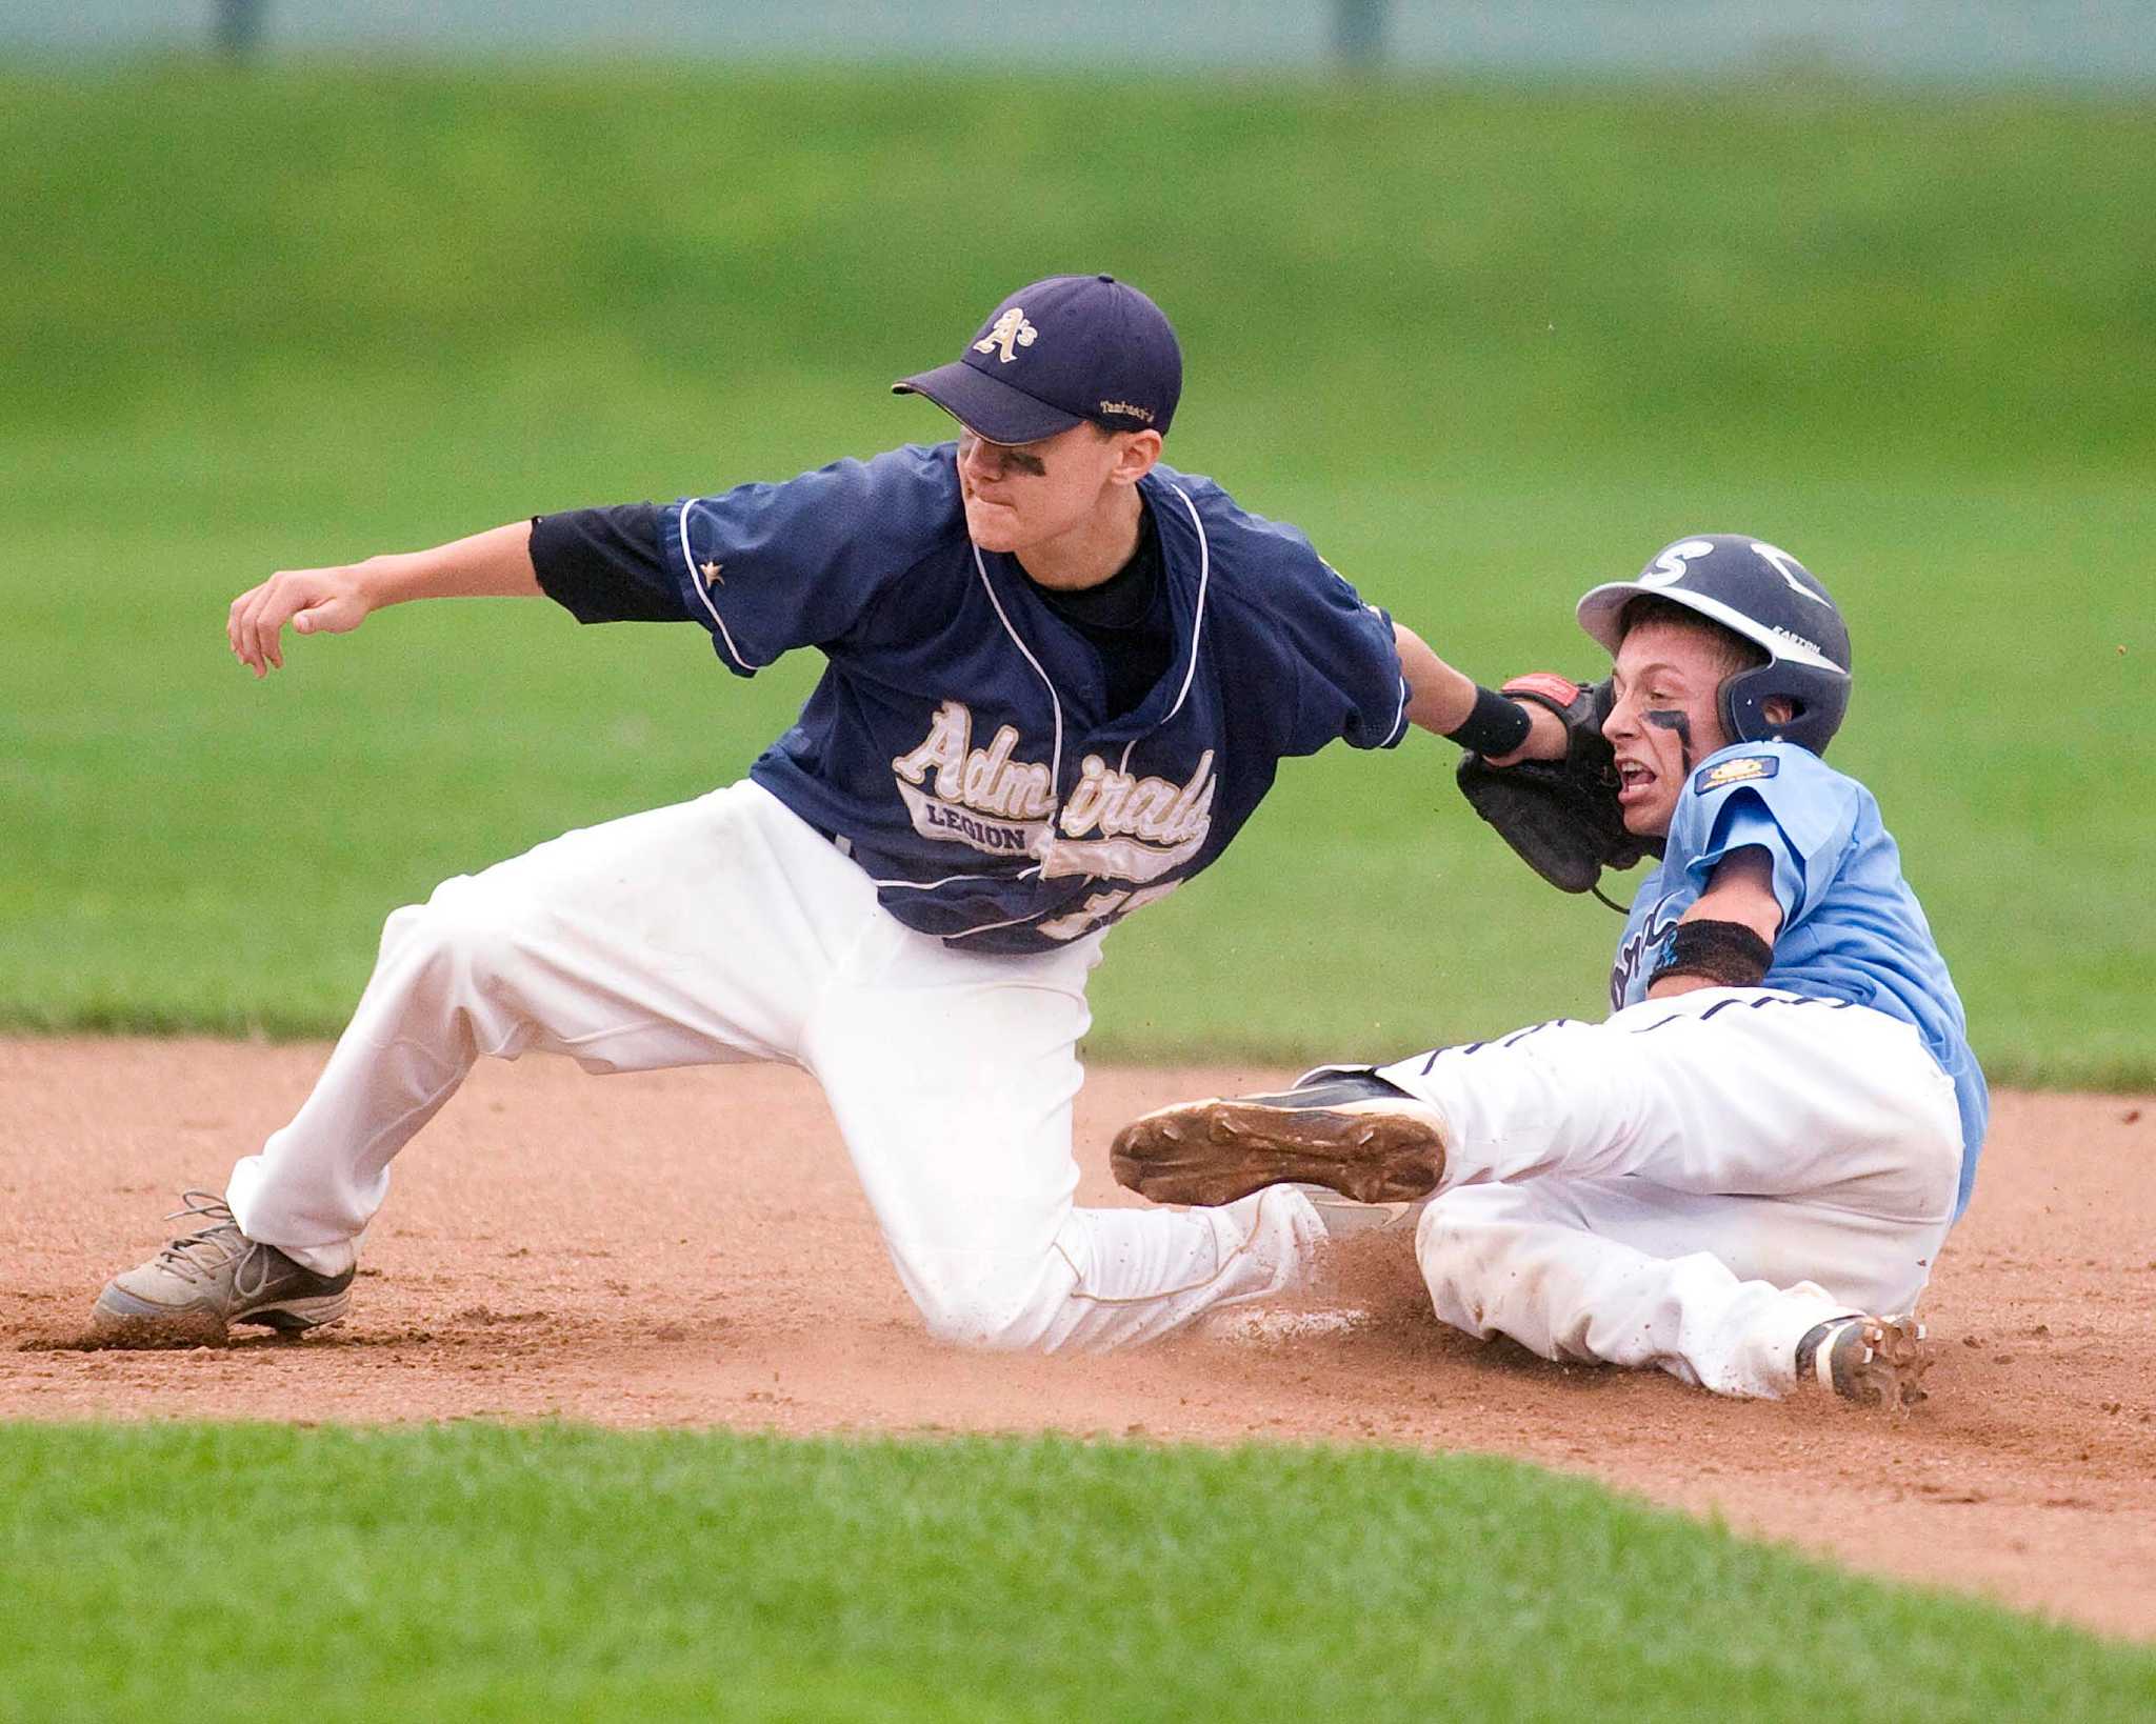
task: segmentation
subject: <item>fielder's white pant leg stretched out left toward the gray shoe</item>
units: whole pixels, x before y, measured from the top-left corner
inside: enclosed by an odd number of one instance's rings
[[[313,1095],[226,1200],[321,1274],[481,1054],[593,1071],[791,1060],[860,871],[755,784],[567,832],[395,912]],[[873,894],[871,894],[873,903]],[[856,916],[858,920],[858,916]]]

